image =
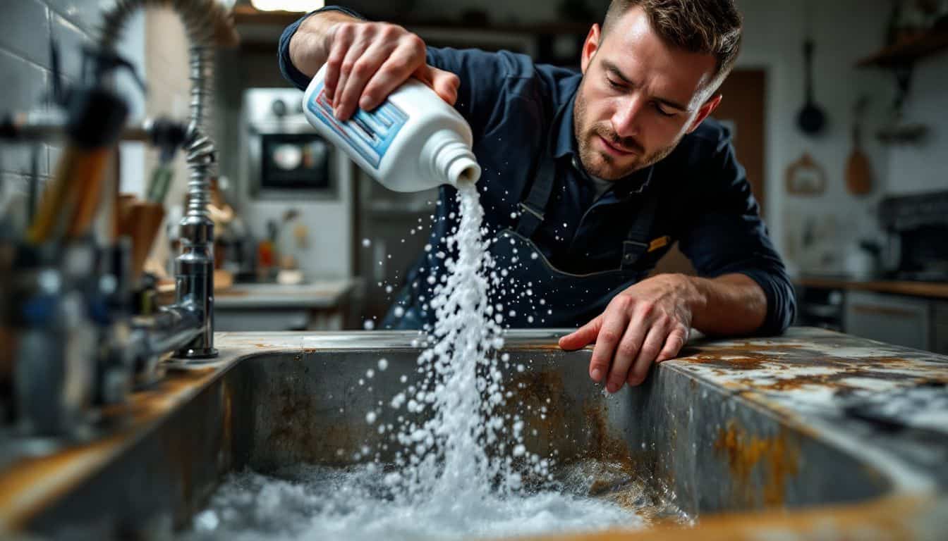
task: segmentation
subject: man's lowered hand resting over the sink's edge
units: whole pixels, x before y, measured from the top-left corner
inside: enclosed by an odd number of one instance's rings
[[[590,377],[615,392],[623,384],[641,384],[652,362],[673,358],[684,346],[693,310],[702,303],[695,282],[684,275],[662,274],[642,280],[612,298],[606,311],[559,339],[564,350],[591,342]]]

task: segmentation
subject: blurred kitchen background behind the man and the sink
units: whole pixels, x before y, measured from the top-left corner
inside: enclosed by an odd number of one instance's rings
[[[62,50],[66,81],[78,77],[99,4],[8,3],[0,21],[3,112],[48,107],[51,39]],[[429,45],[508,48],[575,65],[608,1],[345,5],[409,27]],[[948,2],[738,5],[743,51],[717,116],[735,129],[738,157],[797,282],[798,323],[948,352]],[[233,279],[217,294],[217,329],[372,327],[425,243],[434,197],[382,189],[301,120],[301,92],[287,89],[276,60],[280,32],[298,14],[244,1],[232,9],[241,39],[218,53],[213,114],[217,254],[222,276]],[[816,134],[799,122],[808,101],[808,40],[812,105],[825,117]],[[133,117],[187,116],[185,44],[183,28],[161,10],[131,25],[120,50],[148,82],[142,95],[131,78],[118,77],[133,97]],[[30,179],[45,181],[59,153],[53,144],[0,147],[3,219],[19,220]],[[141,195],[158,162],[142,145],[123,144],[122,191]],[[173,207],[185,191],[183,156],[173,170],[168,224],[180,216]],[[165,229],[148,267],[159,279],[176,250],[175,227]],[[662,269],[687,265],[672,256]]]

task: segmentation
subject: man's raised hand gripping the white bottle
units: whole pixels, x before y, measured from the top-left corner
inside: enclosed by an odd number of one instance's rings
[[[341,120],[356,107],[373,109],[410,77],[453,105],[458,77],[425,63],[425,51],[425,42],[403,27],[336,12],[309,17],[290,41],[290,58],[302,73],[312,77],[326,64],[326,97]]]

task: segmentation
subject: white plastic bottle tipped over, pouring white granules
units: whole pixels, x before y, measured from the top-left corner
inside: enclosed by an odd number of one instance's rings
[[[323,91],[325,71],[323,65],[303,95],[306,119],[383,186],[421,191],[481,177],[470,126],[424,83],[410,79],[374,110],[356,109],[340,122]]]

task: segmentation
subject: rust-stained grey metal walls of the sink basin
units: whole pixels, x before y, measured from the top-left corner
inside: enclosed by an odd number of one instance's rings
[[[504,381],[514,393],[508,402],[521,410],[547,407],[542,419],[524,418],[529,451],[556,453],[563,466],[589,459],[621,463],[650,494],[700,521],[904,492],[903,479],[885,460],[859,456],[684,365],[666,363],[643,386],[607,396],[587,375],[591,350],[562,352],[557,335],[514,332],[507,338],[511,367]],[[352,464],[358,449],[385,438],[366,423],[366,411],[404,389],[402,374],[417,375],[413,338],[219,334],[219,361],[172,365],[168,380],[132,405],[134,426],[110,440],[101,451],[107,456],[24,514],[22,524],[39,532],[64,525],[180,530],[191,526],[228,473]],[[376,370],[360,385],[382,357],[388,370]],[[383,407],[379,423],[395,415]],[[392,446],[380,453],[392,460]]]

